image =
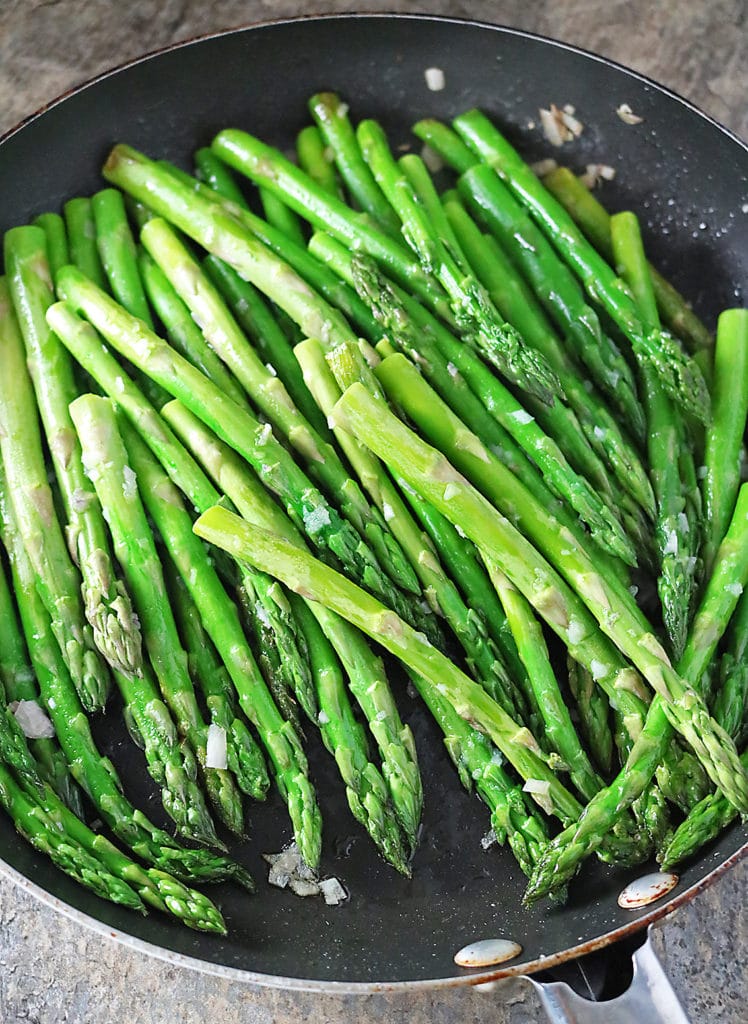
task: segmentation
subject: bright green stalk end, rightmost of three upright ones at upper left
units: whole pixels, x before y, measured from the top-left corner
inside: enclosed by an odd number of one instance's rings
[[[122,193],[102,188],[91,198],[91,212],[96,225],[96,247],[112,294],[133,316],[153,328]]]

